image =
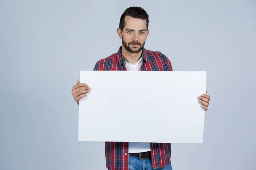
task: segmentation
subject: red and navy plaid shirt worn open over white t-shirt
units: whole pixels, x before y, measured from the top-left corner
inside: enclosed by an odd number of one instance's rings
[[[173,71],[170,60],[161,52],[143,48],[140,71]],[[96,62],[95,71],[127,71],[122,47],[118,52]],[[105,142],[108,170],[129,170],[128,142]],[[165,167],[171,159],[170,143],[150,143],[153,169]]]

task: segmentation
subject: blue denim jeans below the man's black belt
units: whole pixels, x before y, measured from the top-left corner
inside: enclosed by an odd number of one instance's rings
[[[140,160],[140,158],[136,156],[129,155],[129,170],[153,170],[151,159]],[[155,170],[172,170],[171,161],[166,167]]]

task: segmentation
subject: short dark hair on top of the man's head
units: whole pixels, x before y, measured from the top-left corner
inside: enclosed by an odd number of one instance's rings
[[[125,27],[125,16],[146,20],[146,25],[148,30],[148,23],[149,23],[148,14],[143,8],[132,6],[125,9],[124,13],[121,15],[120,23],[119,23],[119,29],[121,29],[121,31],[123,31],[123,28]]]

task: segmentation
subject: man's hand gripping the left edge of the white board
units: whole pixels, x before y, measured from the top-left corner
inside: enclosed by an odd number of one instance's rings
[[[90,92],[90,87],[87,84],[80,83],[80,80],[77,80],[77,84],[72,87],[72,95],[79,105],[79,101],[81,98],[86,96],[87,93]]]

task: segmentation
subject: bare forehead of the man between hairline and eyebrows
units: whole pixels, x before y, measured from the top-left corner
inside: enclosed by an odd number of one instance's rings
[[[147,29],[146,20],[125,16],[125,28]]]

